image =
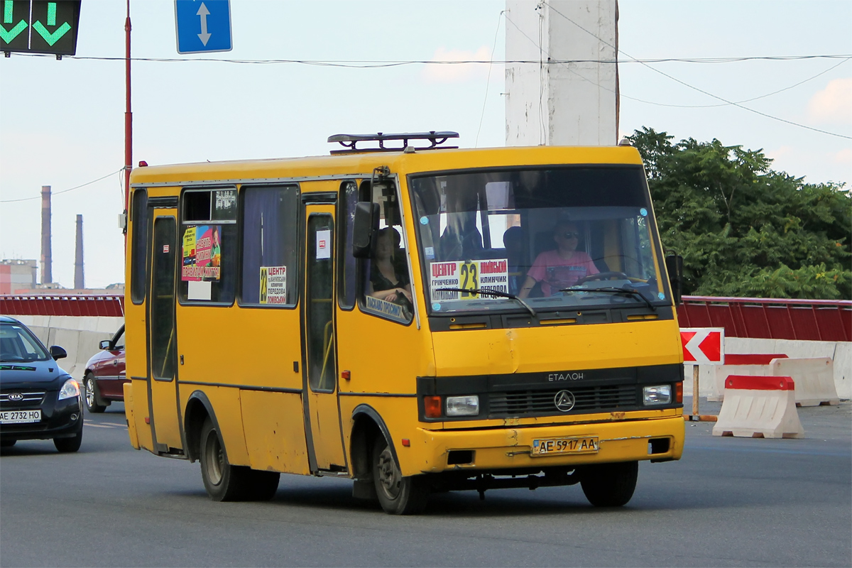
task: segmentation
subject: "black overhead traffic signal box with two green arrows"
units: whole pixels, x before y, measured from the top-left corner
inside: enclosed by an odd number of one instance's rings
[[[74,55],[81,0],[0,0],[0,51]]]

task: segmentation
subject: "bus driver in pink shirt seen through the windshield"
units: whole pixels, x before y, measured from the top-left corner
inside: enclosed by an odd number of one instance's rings
[[[579,237],[576,223],[556,223],[553,229],[556,250],[545,250],[536,257],[518,297],[526,298],[537,282],[541,282],[541,292],[547,296],[556,294],[562,288],[573,286],[580,278],[597,274],[599,271],[591,257],[584,251],[577,250]]]

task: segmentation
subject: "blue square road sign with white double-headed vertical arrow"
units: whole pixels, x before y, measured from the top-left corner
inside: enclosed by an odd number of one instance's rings
[[[175,0],[177,53],[230,51],[230,0]]]

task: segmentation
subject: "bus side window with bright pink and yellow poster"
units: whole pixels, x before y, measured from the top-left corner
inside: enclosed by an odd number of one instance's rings
[[[181,303],[233,304],[237,281],[237,189],[191,189],[181,198]]]

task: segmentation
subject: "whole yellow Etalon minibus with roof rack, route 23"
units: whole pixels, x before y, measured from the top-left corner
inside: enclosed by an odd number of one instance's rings
[[[199,461],[216,501],[296,473],[395,514],[573,484],[621,506],[679,459],[681,274],[639,153],[456,137],[134,169],[131,445]]]

